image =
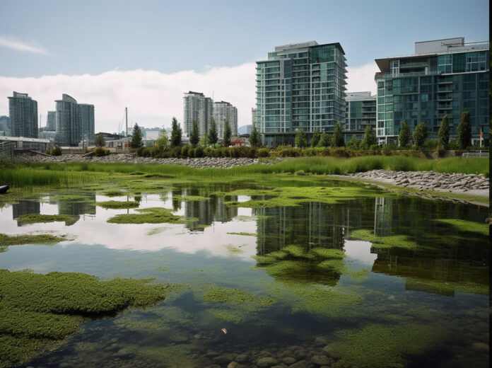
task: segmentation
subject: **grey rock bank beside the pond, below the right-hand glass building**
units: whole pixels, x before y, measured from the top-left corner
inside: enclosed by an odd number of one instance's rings
[[[469,192],[469,194],[474,195],[488,195],[489,187],[488,178],[482,174],[372,170],[363,173],[351,173],[348,176],[376,180],[404,188],[443,192]]]

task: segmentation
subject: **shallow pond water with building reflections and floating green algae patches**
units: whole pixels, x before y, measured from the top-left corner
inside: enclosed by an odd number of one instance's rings
[[[66,240],[0,245],[0,269],[186,286],[19,367],[488,367],[487,212],[295,177],[29,195],[0,232]]]

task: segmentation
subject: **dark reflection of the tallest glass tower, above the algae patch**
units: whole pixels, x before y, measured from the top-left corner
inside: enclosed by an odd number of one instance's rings
[[[254,209],[257,217],[257,254],[291,245],[342,248],[350,222],[348,206],[308,202],[298,207]]]

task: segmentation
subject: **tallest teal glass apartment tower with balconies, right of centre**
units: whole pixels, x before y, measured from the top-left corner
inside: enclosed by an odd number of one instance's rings
[[[257,129],[263,144],[293,144],[298,129],[333,132],[345,122],[346,58],[341,45],[276,46],[257,62]]]

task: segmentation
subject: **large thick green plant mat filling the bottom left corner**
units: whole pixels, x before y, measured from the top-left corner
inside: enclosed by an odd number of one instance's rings
[[[178,285],[99,281],[83,273],[0,270],[0,367],[25,360],[76,332],[83,321],[156,304]],[[21,344],[21,345],[20,345]]]

